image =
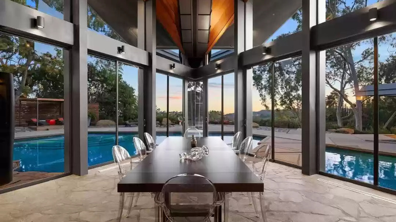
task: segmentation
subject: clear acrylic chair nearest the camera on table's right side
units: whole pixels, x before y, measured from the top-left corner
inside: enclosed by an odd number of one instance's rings
[[[268,162],[271,159],[271,145],[263,145],[257,149],[257,151],[254,154],[253,161],[252,161],[252,169],[253,173],[260,178],[261,181],[264,180],[264,177],[266,175],[266,170],[268,166]],[[254,194],[251,193],[251,196]],[[266,221],[266,213],[263,211],[264,203],[263,203],[263,195],[264,192],[259,192],[258,194],[258,199],[260,202],[260,210],[257,209],[257,204],[255,203],[253,199],[253,206],[254,206],[254,211],[256,212],[256,216],[260,217],[259,211],[261,211],[261,216],[263,221]]]

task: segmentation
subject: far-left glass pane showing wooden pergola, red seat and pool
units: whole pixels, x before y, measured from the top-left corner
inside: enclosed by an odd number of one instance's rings
[[[65,168],[65,50],[0,33],[0,72],[13,73],[14,182],[0,189],[51,177]],[[1,147],[5,149],[5,147]],[[66,158],[69,159],[69,158]],[[68,165],[68,163],[66,163]],[[18,181],[19,180],[19,181]]]

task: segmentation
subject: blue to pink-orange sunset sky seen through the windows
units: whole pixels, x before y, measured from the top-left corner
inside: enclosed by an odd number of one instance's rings
[[[352,1],[352,0],[348,0]],[[369,0],[368,5],[376,3],[377,0]],[[32,0],[27,0],[27,5],[31,7],[35,7],[35,2]],[[48,7],[42,0],[39,1],[39,11],[50,14],[54,17],[63,19],[63,15],[60,12],[57,12],[54,9]],[[267,42],[270,42],[277,38],[277,36],[294,31],[297,27],[297,23],[289,19],[287,20],[270,38]],[[101,33],[104,34],[104,33]],[[369,47],[367,44],[362,44],[354,51],[354,59],[357,60],[360,57],[361,52]],[[379,53],[380,57],[379,60],[383,61],[389,53],[387,52],[387,45],[386,44],[379,44]],[[35,49],[40,53],[50,52],[51,54],[55,53],[56,47],[42,44],[42,43],[35,43]],[[178,52],[178,50],[173,50]],[[212,53],[216,52],[217,50],[212,50]],[[123,79],[135,89],[138,89],[138,68],[129,65],[123,65]],[[157,81],[156,81],[156,98],[157,98],[157,107],[161,110],[166,110],[167,107],[167,100],[166,100],[166,76],[157,74]],[[254,87],[252,87],[254,88]],[[213,78],[209,80],[209,110],[221,110],[221,77],[220,78]],[[328,95],[332,89],[326,87],[325,89],[326,95]],[[353,93],[350,91],[350,95]],[[182,110],[182,81],[177,78],[170,78],[170,110],[175,110],[180,112]],[[353,96],[352,96],[353,97]],[[253,111],[259,111],[261,109],[265,109],[261,105],[260,97],[257,90],[252,89],[252,98],[253,98]],[[354,98],[351,98],[354,101]],[[224,113],[234,113],[234,75],[225,75],[224,76]]]

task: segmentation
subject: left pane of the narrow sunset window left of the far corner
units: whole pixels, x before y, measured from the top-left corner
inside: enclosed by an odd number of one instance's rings
[[[155,77],[156,104],[156,143],[161,143],[167,137],[167,76],[156,73]]]

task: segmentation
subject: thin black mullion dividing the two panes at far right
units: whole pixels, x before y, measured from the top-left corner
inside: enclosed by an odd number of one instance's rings
[[[374,38],[374,185],[378,186],[378,37]]]

